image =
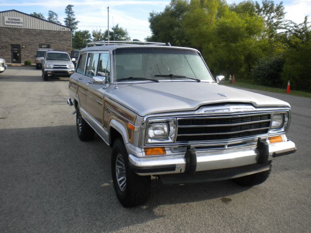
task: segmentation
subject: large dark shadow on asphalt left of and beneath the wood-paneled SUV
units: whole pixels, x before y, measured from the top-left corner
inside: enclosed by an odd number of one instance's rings
[[[106,232],[148,222],[161,205],[224,198],[246,190],[224,181],[163,185],[125,209],[110,174],[110,148],[98,136],[81,142],[76,127],[0,130],[0,232]],[[208,206],[207,206],[208,208]]]

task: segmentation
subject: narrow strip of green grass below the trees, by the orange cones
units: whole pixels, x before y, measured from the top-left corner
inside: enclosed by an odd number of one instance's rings
[[[226,85],[226,86],[232,86],[232,87],[236,86],[236,87],[248,88],[248,89],[253,89],[253,90],[269,91],[269,92],[274,92],[274,93],[281,93],[281,94],[286,94],[286,95],[311,98],[311,93],[305,92],[305,91],[291,90],[291,93],[287,94],[286,89],[280,89],[280,88],[270,87],[270,86],[260,86],[260,85],[255,85],[255,84],[250,84],[250,83],[241,83],[241,82],[235,82],[235,84],[233,85],[229,83],[229,81],[221,82],[221,84]]]

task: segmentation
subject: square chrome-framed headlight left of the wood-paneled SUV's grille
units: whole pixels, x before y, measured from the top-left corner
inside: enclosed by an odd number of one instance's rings
[[[146,143],[171,143],[175,137],[175,119],[148,121]]]

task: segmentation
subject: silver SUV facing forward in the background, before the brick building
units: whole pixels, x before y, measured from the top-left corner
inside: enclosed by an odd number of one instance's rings
[[[51,76],[69,77],[74,72],[74,65],[69,54],[63,51],[47,51],[42,61],[42,78],[48,81]]]

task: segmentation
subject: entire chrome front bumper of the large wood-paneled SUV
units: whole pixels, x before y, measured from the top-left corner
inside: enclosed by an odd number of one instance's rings
[[[127,146],[128,147],[128,146]],[[128,148],[130,151],[131,149]],[[287,140],[274,144],[264,143],[256,147],[238,147],[225,150],[198,150],[190,153],[189,159],[184,152],[174,155],[136,157],[129,153],[129,164],[138,175],[164,175],[177,173],[195,173],[216,169],[248,166],[253,164],[267,165],[272,159],[294,153],[294,142]],[[195,162],[195,166],[193,163]],[[192,164],[190,166],[190,164]],[[191,168],[189,168],[191,167]],[[190,170],[189,170],[190,169]]]

